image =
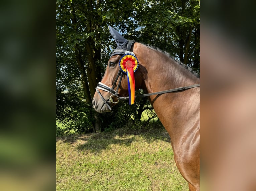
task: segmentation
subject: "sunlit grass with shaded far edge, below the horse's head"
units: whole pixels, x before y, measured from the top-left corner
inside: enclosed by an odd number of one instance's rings
[[[165,129],[56,139],[56,190],[188,190]]]

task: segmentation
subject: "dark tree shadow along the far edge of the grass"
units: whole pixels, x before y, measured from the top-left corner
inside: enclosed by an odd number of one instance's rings
[[[118,128],[110,132],[96,134],[76,134],[67,137],[59,137],[63,143],[72,144],[78,151],[100,153],[102,150],[110,149],[112,144],[130,146],[136,137],[140,136],[146,142],[151,143],[161,140],[170,143],[170,137],[163,127],[130,129],[128,127]],[[82,142],[82,144],[81,144]]]

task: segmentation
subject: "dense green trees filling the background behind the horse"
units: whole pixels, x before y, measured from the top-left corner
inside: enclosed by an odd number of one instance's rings
[[[138,100],[104,114],[92,108],[95,87],[116,47],[109,25],[126,39],[166,51],[200,72],[199,0],[57,0],[56,120],[66,125],[58,134],[96,132],[140,120],[149,105]]]

